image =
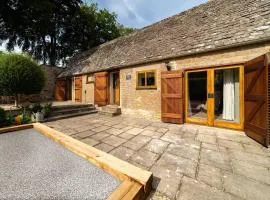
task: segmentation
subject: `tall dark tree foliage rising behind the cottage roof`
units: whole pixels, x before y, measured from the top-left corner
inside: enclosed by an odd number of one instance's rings
[[[0,1],[0,43],[8,40],[8,50],[18,45],[43,64],[65,62],[130,31],[115,13],[81,0]]]

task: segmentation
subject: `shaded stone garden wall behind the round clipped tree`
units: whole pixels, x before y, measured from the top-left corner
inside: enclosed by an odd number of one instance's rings
[[[62,72],[62,68],[42,65],[45,71],[46,82],[43,90],[40,94],[34,95],[20,95],[20,102],[40,102],[40,101],[53,101],[54,100],[54,89],[55,80],[58,74]],[[11,96],[0,96],[1,104],[11,104],[14,103],[14,97]]]

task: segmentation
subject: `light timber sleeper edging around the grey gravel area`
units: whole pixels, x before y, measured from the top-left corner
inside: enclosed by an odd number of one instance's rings
[[[34,123],[0,128],[0,134],[30,128],[35,128],[41,134],[123,181],[108,197],[109,200],[146,199],[150,193],[153,179],[152,172],[140,169],[44,124]]]

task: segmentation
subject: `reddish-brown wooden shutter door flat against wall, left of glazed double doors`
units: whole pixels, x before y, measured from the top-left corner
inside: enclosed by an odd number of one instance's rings
[[[163,122],[183,123],[183,72],[161,73],[161,117]]]

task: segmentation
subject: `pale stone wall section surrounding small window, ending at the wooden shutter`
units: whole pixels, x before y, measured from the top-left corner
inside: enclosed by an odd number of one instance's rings
[[[156,70],[157,89],[136,89],[136,72],[143,70]],[[160,118],[160,74],[164,70],[165,63],[120,70],[120,106],[124,114]],[[131,79],[127,80],[127,76],[130,75]]]

